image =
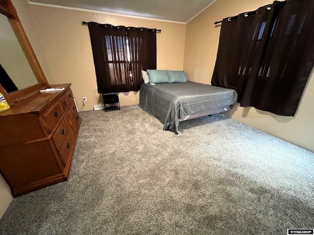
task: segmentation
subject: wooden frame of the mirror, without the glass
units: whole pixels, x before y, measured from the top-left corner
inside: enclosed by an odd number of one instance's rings
[[[8,18],[8,21],[11,24],[12,29],[16,35],[16,38],[22,47],[22,50],[26,56],[30,68],[33,71],[38,82],[38,84],[35,84],[33,86],[27,87],[16,92],[12,92],[10,94],[7,94],[3,89],[2,85],[0,84],[0,93],[4,95],[4,98],[7,103],[10,106],[13,106],[17,102],[31,96],[32,94],[39,92],[40,89],[47,87],[49,83],[45,77],[44,72],[40,67],[35,52],[33,51],[33,48],[31,47],[28,41],[24,28],[20,22],[18,14],[11,0],[0,0],[0,13]]]

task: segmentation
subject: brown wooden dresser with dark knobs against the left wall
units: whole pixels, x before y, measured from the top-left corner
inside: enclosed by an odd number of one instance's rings
[[[81,122],[70,85],[0,112],[0,171],[14,196],[68,179]]]

